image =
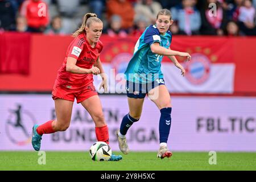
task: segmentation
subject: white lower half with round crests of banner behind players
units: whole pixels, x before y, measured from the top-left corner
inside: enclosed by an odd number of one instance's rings
[[[105,72],[109,76],[109,93],[125,93],[123,72],[126,70],[129,56],[121,56],[119,59],[126,60],[119,67],[108,63],[103,64]],[[171,93],[234,92],[236,71],[234,63],[212,63],[207,56],[193,53],[191,61],[183,63],[183,67],[186,71],[184,77],[181,76],[180,69],[176,68],[174,64],[162,63],[161,70],[165,84]],[[100,76],[94,76],[94,84],[100,85],[100,81]]]

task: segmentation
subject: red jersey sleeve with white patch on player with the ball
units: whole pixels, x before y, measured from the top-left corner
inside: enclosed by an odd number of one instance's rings
[[[70,46],[68,57],[73,57],[75,59],[78,59],[80,56],[80,53],[82,52],[82,49],[84,48],[84,38],[76,37],[75,41]]]

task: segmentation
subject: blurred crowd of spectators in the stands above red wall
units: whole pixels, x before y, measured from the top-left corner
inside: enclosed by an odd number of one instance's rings
[[[72,34],[92,12],[105,34],[139,36],[160,9],[171,10],[172,34],[256,35],[256,0],[0,0],[0,31]]]

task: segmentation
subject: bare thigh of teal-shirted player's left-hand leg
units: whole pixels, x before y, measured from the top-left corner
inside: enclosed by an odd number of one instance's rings
[[[142,113],[144,98],[130,98],[128,97],[129,114],[135,119],[139,119]]]

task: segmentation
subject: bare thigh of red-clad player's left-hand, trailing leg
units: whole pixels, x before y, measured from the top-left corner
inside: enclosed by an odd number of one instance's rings
[[[57,117],[57,127],[68,127],[71,122],[73,101],[67,101],[57,98],[56,100],[54,100],[54,102]]]

